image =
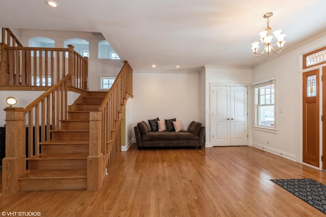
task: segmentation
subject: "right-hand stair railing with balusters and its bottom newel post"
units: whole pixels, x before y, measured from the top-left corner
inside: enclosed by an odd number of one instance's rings
[[[88,190],[101,187],[106,166],[121,152],[121,119],[129,97],[132,97],[132,69],[126,61],[98,111],[90,112]]]

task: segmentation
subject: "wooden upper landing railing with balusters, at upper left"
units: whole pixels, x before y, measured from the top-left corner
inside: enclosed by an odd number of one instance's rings
[[[68,48],[23,47],[2,28],[0,86],[53,86],[66,75],[71,87],[88,90],[88,58]]]

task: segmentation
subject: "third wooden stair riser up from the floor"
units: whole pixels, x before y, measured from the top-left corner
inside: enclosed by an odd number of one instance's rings
[[[42,145],[43,154],[89,153],[88,144]]]

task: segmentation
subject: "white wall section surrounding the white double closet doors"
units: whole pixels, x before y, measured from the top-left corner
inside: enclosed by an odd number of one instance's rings
[[[206,143],[205,146],[210,147],[210,83],[241,83],[248,84],[250,91],[252,70],[250,68],[241,67],[214,67],[205,66],[205,127],[206,127]],[[251,109],[251,95],[248,96],[248,111]],[[249,130],[251,129],[251,121],[249,118]],[[250,135],[250,132],[249,132]],[[249,141],[251,138],[249,138]],[[250,143],[250,142],[249,142]]]

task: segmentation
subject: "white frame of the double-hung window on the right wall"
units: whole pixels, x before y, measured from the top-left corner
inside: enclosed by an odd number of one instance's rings
[[[263,125],[259,125],[259,117],[260,117],[260,113],[259,113],[259,107],[260,106],[266,106],[266,105],[273,105],[273,104],[260,104],[259,103],[259,91],[258,89],[264,86],[269,86],[274,84],[274,126],[263,126]],[[254,92],[254,126],[253,129],[254,130],[258,130],[258,131],[264,131],[264,132],[269,132],[269,133],[277,133],[277,111],[278,111],[278,107],[277,107],[277,82],[276,82],[276,77],[272,77],[272,78],[268,78],[262,81],[258,81],[253,83],[253,92]]]

